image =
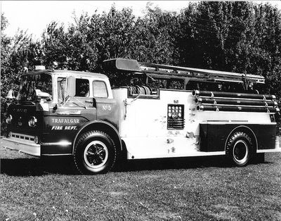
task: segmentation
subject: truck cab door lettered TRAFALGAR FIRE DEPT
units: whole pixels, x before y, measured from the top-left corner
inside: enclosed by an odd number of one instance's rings
[[[91,81],[86,77],[73,78],[73,92],[67,97],[63,94],[66,80],[66,77],[58,77],[58,103],[53,103],[48,115],[44,117],[46,128],[41,138],[43,155],[72,153],[72,140],[79,129],[86,122],[97,118],[96,105],[89,87]]]

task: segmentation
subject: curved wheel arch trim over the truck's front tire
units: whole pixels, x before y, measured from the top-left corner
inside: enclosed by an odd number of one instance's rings
[[[93,122],[89,125],[84,126],[77,133],[76,137],[74,138],[74,141],[72,143],[73,147],[75,145],[75,142],[77,141],[77,137],[79,137],[80,134],[82,134],[86,131],[89,131],[89,130],[99,130],[99,131],[105,132],[115,142],[115,146],[117,148],[117,151],[122,151],[122,141],[119,137],[119,134],[118,134],[117,130],[115,129],[115,127],[113,127],[112,125],[110,125],[107,122]],[[72,148],[72,153],[73,153],[73,148]]]

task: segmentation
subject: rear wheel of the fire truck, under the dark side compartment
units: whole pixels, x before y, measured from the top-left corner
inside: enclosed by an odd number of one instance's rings
[[[227,141],[226,156],[228,156],[233,165],[242,167],[249,163],[253,149],[253,143],[248,134],[245,132],[235,132]]]

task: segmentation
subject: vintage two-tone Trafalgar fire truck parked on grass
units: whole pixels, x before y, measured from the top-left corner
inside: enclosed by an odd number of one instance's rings
[[[226,156],[244,166],[281,151],[275,96],[253,89],[262,76],[115,58],[103,70],[131,80],[111,87],[104,74],[40,69],[21,76],[8,106],[8,149],[70,156],[82,174],[149,158]]]

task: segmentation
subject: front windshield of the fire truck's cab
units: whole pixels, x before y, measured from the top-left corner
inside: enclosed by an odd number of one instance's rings
[[[35,101],[35,89],[50,94],[52,99],[52,77],[46,73],[22,75],[20,90],[18,91],[17,100]]]

